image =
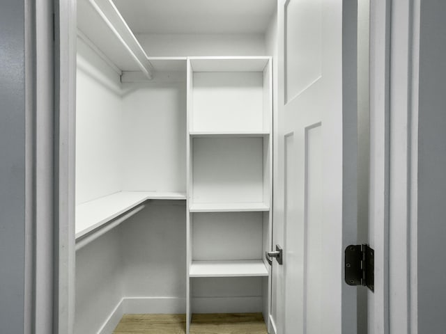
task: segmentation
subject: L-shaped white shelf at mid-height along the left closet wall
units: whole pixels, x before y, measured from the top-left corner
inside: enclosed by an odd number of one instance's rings
[[[120,191],[76,206],[76,239],[129,212],[146,200],[185,200],[186,194],[167,191]]]

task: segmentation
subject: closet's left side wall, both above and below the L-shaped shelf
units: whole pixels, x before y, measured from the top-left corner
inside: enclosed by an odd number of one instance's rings
[[[76,204],[121,190],[121,79],[77,39]],[[120,229],[76,252],[75,333],[97,333],[122,298]]]

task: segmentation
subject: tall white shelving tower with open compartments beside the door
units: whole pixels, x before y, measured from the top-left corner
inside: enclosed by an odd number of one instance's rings
[[[268,280],[263,254],[271,228],[271,71],[269,57],[188,61],[187,331],[195,284]],[[239,301],[233,300],[233,310]]]

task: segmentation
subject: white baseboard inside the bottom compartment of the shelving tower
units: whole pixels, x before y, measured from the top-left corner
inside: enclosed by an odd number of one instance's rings
[[[195,297],[194,313],[253,313],[263,312],[261,296],[252,297]]]

